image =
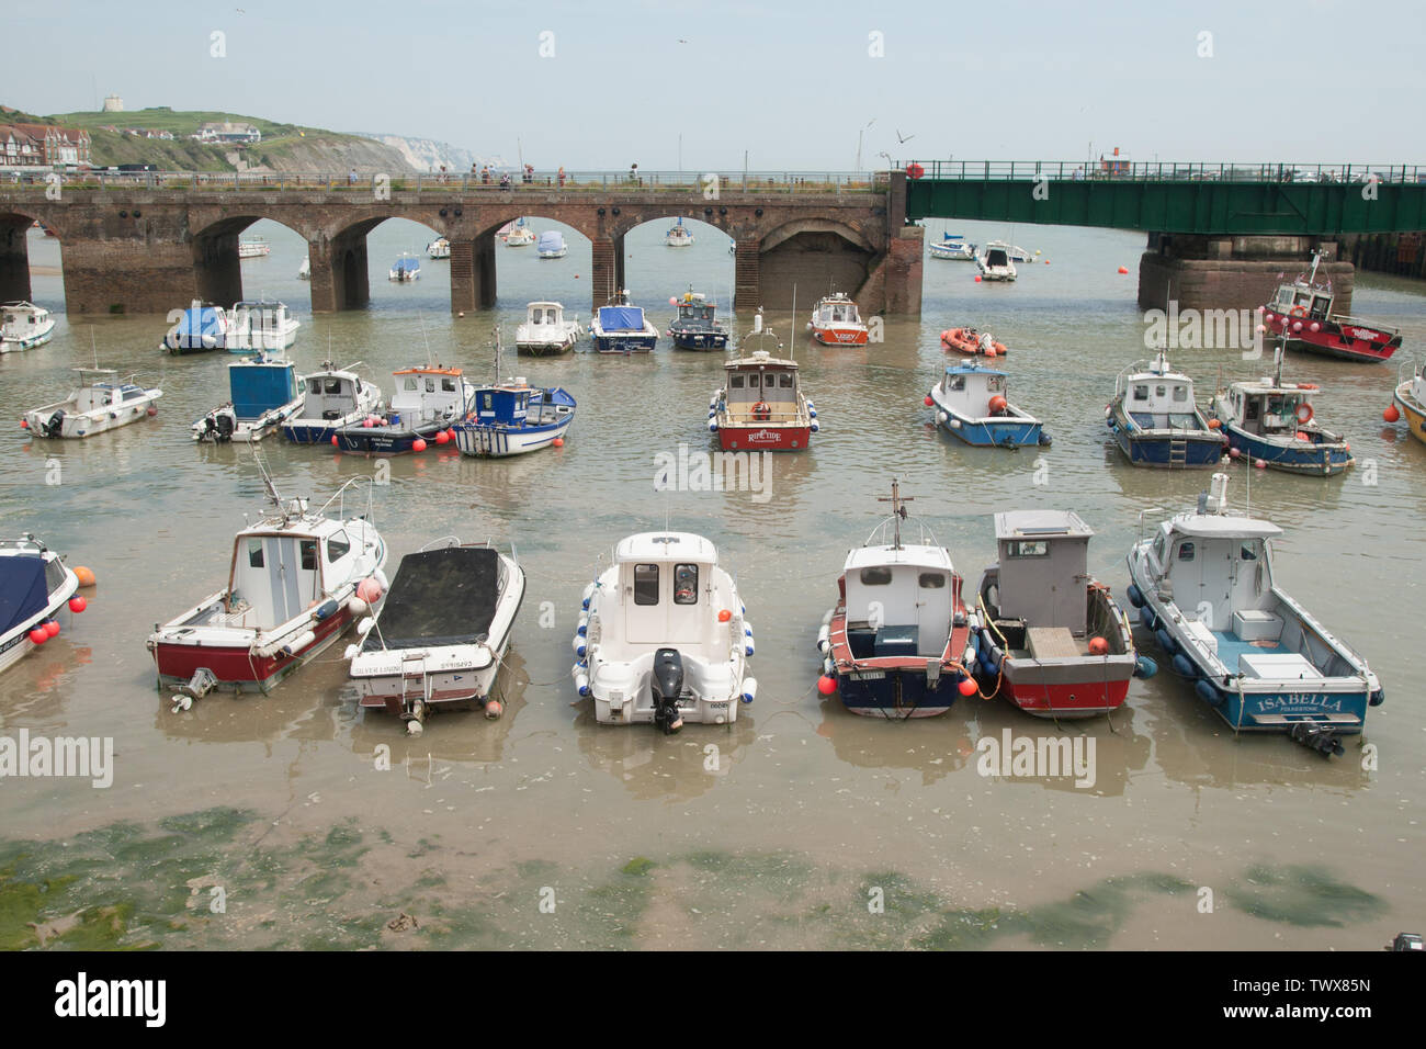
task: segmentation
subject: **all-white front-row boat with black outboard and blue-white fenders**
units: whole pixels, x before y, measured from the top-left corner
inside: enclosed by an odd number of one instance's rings
[[[726,725],[757,696],[747,674],[753,628],[717,548],[689,532],[623,539],[585,588],[575,686],[600,725]]]

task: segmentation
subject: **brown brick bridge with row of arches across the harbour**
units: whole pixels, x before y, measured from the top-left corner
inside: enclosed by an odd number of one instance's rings
[[[67,308],[165,313],[190,298],[242,298],[238,237],[271,218],[307,241],[314,313],[369,298],[366,234],[409,218],[451,241],[451,310],[495,303],[496,231],[520,216],[569,225],[592,244],[592,305],[625,284],[625,235],[683,217],[733,238],[734,305],[786,308],[834,285],[864,313],[918,313],[923,231],[906,225],[906,177],[866,190],[737,190],[707,200],[697,190],[606,187],[503,190],[422,187],[376,200],[369,190],[191,188],[141,186],[0,188],[0,300],[29,298],[26,230],[40,220],[60,238]]]

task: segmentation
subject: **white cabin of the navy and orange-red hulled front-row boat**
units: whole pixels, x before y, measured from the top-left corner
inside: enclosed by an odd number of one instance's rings
[[[847,644],[857,659],[940,658],[951,631],[951,558],[934,545],[861,547],[847,555]]]

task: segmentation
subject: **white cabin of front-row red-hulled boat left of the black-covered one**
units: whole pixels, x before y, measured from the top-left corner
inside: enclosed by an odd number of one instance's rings
[[[222,612],[241,617],[241,624],[230,619],[230,625],[281,625],[359,575],[362,552],[361,537],[349,535],[341,521],[268,518],[234,539]]]

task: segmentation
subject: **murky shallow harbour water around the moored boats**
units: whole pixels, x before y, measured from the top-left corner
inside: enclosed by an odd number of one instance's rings
[[[690,284],[730,298],[726,237],[690,228],[692,248],[665,247],[659,223],[627,238],[633,301],[660,330],[669,297]],[[930,224],[927,238],[943,228]],[[114,741],[107,789],[0,779],[0,942],[1373,949],[1419,926],[1426,726],[1412,668],[1426,447],[1382,422],[1395,364],[1288,360],[1289,378],[1322,385],[1320,420],[1352,442],[1359,465],[1345,478],[1231,468],[1235,505],[1251,497],[1288,529],[1279,584],[1385,685],[1386,704],[1343,758],[1283,736],[1233,738],[1166,671],[1135,681],[1114,716],[1062,729],[980,698],[941,718],[886,722],[817,694],[817,625],[893,477],[967,585],[994,559],[991,514],[1054,507],[1095,529],[1091,571],[1121,602],[1139,512],[1184,508],[1208,484],[1201,471],[1127,465],[1104,425],[1115,374],[1149,355],[1135,305],[1142,234],[957,228],[1040,260],[1007,285],[928,260],[923,317],[887,318],[884,341],[868,347],[810,341],[806,314],[824,287],[797,290],[794,320],[769,317],[823,428],[806,454],[773,461],[767,501],[655,490],[660,452],[714,448],[706,404],[724,360],[674,353],[667,338],[629,358],[506,357],[508,373],[578,398],[563,448],[394,460],[375,490],[388,574],[401,554],[448,534],[513,542],[528,572],[505,716],[438,716],[415,739],[359,711],[341,645],[270,695],[173,711],[144,638],[224,584],[232,532],[262,508],[247,448],[195,447],[188,435],[227,400],[230,357],[161,354],[161,317],[67,317],[60,278],[36,275],[34,298],[58,327],[48,345],[0,361],[7,418],[61,400],[70,368],[93,365],[96,351],[164,398],[155,420],[87,441],[31,441],[16,424],[0,432],[4,534],[33,531],[98,577],[88,609],[66,614],[58,638],[0,678],[0,735]],[[492,325],[512,345],[529,300],[563,301],[588,323],[589,244],[570,230],[558,261],[498,247],[499,303],[463,318],[449,314],[448,263],[422,254],[418,283],[386,281],[401,251],[434,238],[424,227],[379,225],[371,305],[315,318],[297,280],[301,238],[271,223],[245,235],[272,245],[242,264],[245,294],[282,298],[302,321],[298,371],[361,361],[386,394],[394,368],[428,355],[488,375]],[[37,267],[58,264],[56,241],[33,237],[30,250]],[[1353,314],[1399,325],[1405,354],[1426,347],[1419,284],[1359,273]],[[931,428],[921,398],[947,361],[938,333],[961,324],[1010,347],[1011,400],[1045,421],[1051,448],[973,450]],[[750,327],[744,310],[734,330],[742,338]],[[1179,348],[1171,360],[1198,380],[1201,401],[1219,375],[1271,370],[1236,348]],[[374,470],[278,440],[262,452],[288,495],[322,500]],[[665,522],[707,535],[737,574],[760,682],[734,725],[667,738],[595,725],[569,678],[596,559]],[[1092,738],[1092,786],[981,775],[978,741],[1005,731]]]

